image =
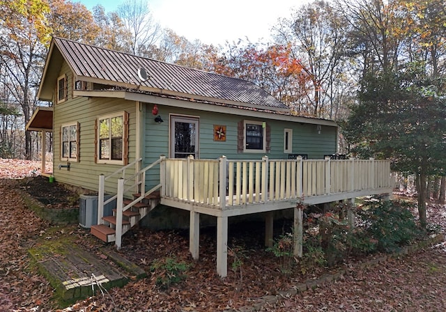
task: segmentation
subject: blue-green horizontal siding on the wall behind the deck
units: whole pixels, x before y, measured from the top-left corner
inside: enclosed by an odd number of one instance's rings
[[[151,114],[153,104],[146,105],[146,135],[143,153],[146,164],[151,164],[160,155],[169,156],[169,114],[199,116],[199,157],[201,159],[217,159],[222,155],[228,159],[261,159],[264,155],[270,159],[288,159],[288,154],[284,153],[284,129],[293,130],[293,153],[308,154],[309,158],[322,159],[323,155],[336,153],[337,150],[336,127],[322,126],[321,134],[318,134],[316,125],[160,106],[158,106],[159,114],[164,123],[155,123],[155,116]],[[270,153],[237,152],[238,122],[244,119],[266,121],[270,125]],[[213,125],[226,125],[226,141],[213,140]],[[159,182],[157,174],[150,175],[147,179],[151,186]]]

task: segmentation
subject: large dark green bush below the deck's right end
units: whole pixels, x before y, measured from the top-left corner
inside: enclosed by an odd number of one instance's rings
[[[379,251],[392,252],[409,244],[422,233],[417,227],[413,203],[405,201],[368,202],[357,210],[362,220],[364,235],[376,241]]]

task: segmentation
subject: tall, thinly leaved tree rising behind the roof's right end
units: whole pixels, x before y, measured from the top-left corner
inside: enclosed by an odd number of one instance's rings
[[[337,103],[350,86],[344,75],[347,30],[344,17],[320,0],[298,8],[275,26],[276,42],[291,47],[293,57],[302,60],[302,69],[311,79],[306,104],[312,116],[337,116]]]

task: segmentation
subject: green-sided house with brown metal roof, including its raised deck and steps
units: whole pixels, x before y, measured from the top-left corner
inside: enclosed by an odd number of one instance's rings
[[[56,180],[98,191],[94,235],[121,247],[161,203],[190,212],[198,258],[207,214],[217,218],[221,276],[229,217],[265,213],[268,244],[276,210],[293,208],[301,220],[298,202],[391,192],[389,162],[325,157],[337,153],[336,123],[294,116],[242,79],[53,38],[38,99],[52,108],[36,110],[27,129],[53,132]],[[116,216],[102,218],[112,199]]]

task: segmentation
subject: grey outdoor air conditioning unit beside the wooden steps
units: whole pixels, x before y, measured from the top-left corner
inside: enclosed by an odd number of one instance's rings
[[[113,195],[105,194],[104,201]],[[116,199],[104,206],[104,217],[111,216],[116,208]],[[79,226],[91,228],[98,221],[98,195],[79,196]]]

